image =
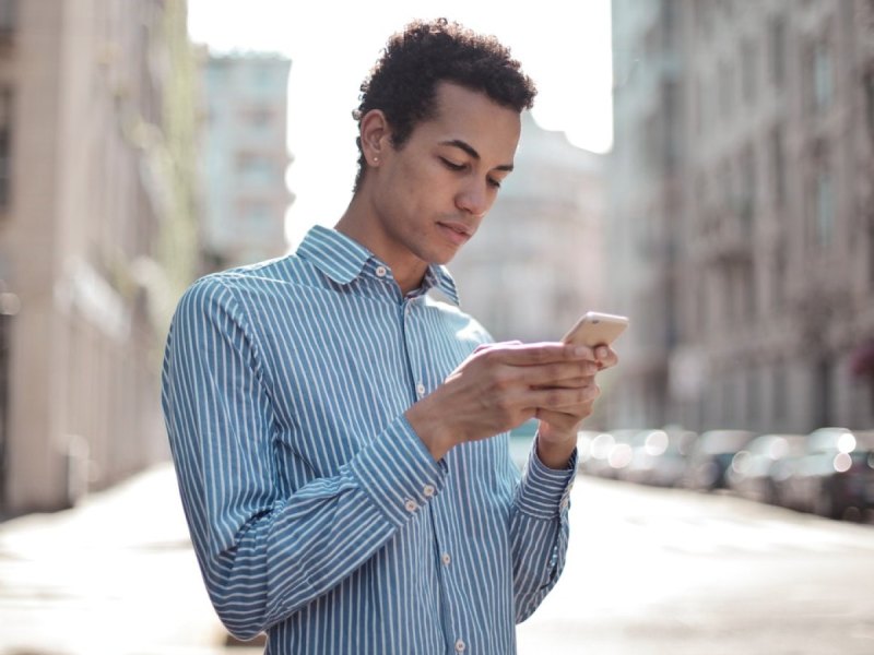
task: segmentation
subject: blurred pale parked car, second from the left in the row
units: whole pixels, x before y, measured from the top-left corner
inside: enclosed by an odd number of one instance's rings
[[[677,486],[696,438],[695,432],[677,428],[641,432],[635,439],[631,461],[622,478],[640,485]]]

